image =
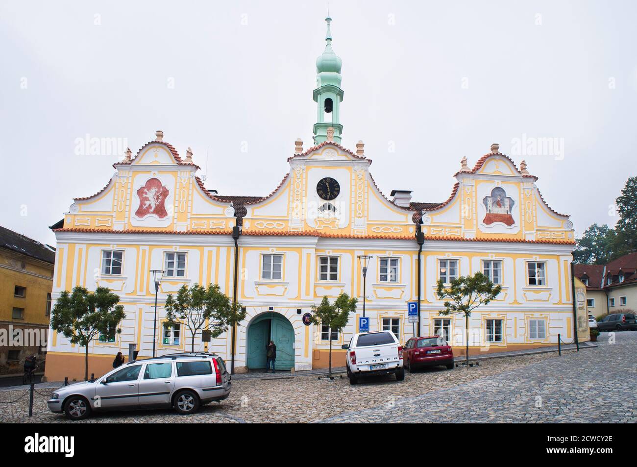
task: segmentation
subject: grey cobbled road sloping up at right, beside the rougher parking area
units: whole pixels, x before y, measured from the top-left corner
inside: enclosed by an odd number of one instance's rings
[[[598,349],[321,421],[637,422],[637,332],[603,333],[598,344]]]

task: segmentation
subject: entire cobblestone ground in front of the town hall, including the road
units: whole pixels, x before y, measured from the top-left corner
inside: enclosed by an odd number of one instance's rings
[[[489,359],[473,368],[407,373],[403,382],[393,376],[354,386],[338,376],[234,380],[228,399],[194,415],[108,412],[83,422],[635,421],[637,332],[616,335],[614,345],[605,342],[608,333],[603,333],[599,348],[579,354]],[[68,422],[46,406],[53,391],[38,389],[31,419],[27,392],[0,392],[0,423]],[[540,408],[536,396],[542,397]]]

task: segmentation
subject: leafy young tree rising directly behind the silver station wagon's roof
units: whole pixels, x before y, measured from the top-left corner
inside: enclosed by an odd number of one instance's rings
[[[210,337],[220,336],[228,327],[245,319],[240,303],[233,304],[217,284],[203,287],[182,285],[176,296],[166,298],[166,325],[184,324],[190,330],[190,351],[195,351],[195,336],[210,331]]]

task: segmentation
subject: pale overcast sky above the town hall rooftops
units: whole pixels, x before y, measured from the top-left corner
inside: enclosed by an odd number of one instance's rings
[[[440,202],[462,157],[473,166],[499,143],[578,234],[614,224],[610,206],[637,175],[636,5],[331,0],[343,145],[364,141],[386,196]],[[76,154],[87,134],[127,139],[135,154],[161,129],[180,154],[192,147],[206,187],[269,194],[294,140],[311,142],[326,10],[3,0],[1,225],[55,244],[48,226],[104,187],[118,159]],[[540,138],[555,141],[550,154],[533,149]]]

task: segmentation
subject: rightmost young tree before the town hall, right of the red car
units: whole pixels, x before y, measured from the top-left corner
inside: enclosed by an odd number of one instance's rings
[[[478,306],[487,305],[496,298],[501,290],[500,285],[493,284],[489,277],[480,272],[473,276],[455,278],[448,285],[445,285],[442,279],[438,280],[436,295],[438,299],[445,300],[445,309],[438,314],[464,315],[466,365],[469,364],[469,316]]]

